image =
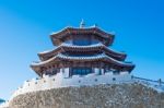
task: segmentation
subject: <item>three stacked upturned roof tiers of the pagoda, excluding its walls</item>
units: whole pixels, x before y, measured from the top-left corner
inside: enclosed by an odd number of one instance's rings
[[[66,44],[66,39],[71,39],[73,36],[86,35],[94,36],[101,43],[87,46],[77,46],[72,44]],[[127,57],[124,52],[117,52],[107,46],[110,46],[114,41],[114,35],[108,34],[98,27],[82,27],[73,28],[66,27],[58,33],[50,35],[52,44],[56,46],[52,50],[39,52],[39,62],[33,63],[32,69],[39,74],[42,69],[50,67],[55,63],[61,62],[106,62],[109,65],[115,65],[118,69],[131,72],[134,64],[125,62]],[[90,53],[90,56],[81,55],[69,55],[72,53]],[[91,53],[92,52],[92,53]],[[96,52],[96,53],[94,53]]]

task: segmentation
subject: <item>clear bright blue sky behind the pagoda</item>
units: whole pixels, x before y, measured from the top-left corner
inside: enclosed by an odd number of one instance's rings
[[[113,49],[126,51],[132,74],[164,80],[163,0],[0,0],[0,97],[8,99],[25,80],[37,52],[52,49],[49,34],[95,23],[116,34]]]

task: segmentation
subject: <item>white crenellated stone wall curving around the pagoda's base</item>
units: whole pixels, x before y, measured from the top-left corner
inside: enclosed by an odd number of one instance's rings
[[[98,85],[98,84],[114,84],[131,82],[131,75],[128,72],[115,75],[112,72],[103,75],[96,75],[95,73],[87,74],[85,76],[73,75],[72,77],[66,77],[66,73],[58,73],[54,76],[44,75],[43,79],[24,82],[22,87],[19,87],[11,99],[20,94],[25,94],[36,91],[45,91],[68,86],[83,86],[83,85]]]

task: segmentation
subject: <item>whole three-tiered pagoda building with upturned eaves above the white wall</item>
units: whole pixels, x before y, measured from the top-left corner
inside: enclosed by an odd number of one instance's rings
[[[115,35],[106,33],[97,26],[66,27],[52,33],[50,39],[52,50],[39,52],[39,62],[31,68],[40,76],[61,73],[63,77],[72,75],[102,75],[107,72],[119,74],[130,73],[134,64],[126,62],[124,52],[110,49]]]

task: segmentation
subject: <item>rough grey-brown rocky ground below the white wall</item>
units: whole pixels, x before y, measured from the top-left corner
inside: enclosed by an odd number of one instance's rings
[[[139,83],[66,87],[20,95],[10,108],[164,108],[164,93]]]

